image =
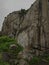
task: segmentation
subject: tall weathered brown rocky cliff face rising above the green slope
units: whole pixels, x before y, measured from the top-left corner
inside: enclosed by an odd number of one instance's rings
[[[49,45],[49,26],[47,26],[49,24],[47,19],[45,20],[42,17],[41,33],[39,33],[39,14],[39,1],[37,0],[28,10],[14,11],[5,17],[2,33],[18,40],[25,49],[24,57],[29,56],[28,53],[31,49],[33,49],[31,51],[33,54],[38,55],[39,51],[40,53],[43,52],[45,45],[47,47]],[[42,51],[37,47],[41,47]]]

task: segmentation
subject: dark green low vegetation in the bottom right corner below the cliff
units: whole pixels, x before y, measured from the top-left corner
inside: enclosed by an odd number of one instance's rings
[[[33,56],[30,60],[27,58],[24,59],[29,65],[43,65],[47,63],[46,65],[49,65],[49,54],[45,54],[42,56]]]

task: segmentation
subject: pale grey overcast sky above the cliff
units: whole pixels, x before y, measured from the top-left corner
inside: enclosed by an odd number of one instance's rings
[[[0,0],[0,30],[4,17],[13,11],[28,9],[35,0]]]

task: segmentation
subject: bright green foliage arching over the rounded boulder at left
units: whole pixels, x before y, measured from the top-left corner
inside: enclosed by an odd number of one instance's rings
[[[22,50],[22,46],[17,43],[16,39],[10,38],[10,37],[7,37],[7,36],[0,37],[0,52],[9,51],[9,47],[12,44],[16,45],[16,47],[17,47],[16,50],[18,50],[18,51]],[[21,49],[19,49],[19,48],[21,48]]]

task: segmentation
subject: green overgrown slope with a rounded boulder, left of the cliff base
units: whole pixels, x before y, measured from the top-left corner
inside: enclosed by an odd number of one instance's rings
[[[17,43],[16,39],[7,36],[0,37],[0,65],[12,65],[21,51],[23,47]]]

